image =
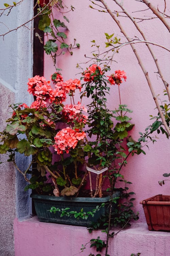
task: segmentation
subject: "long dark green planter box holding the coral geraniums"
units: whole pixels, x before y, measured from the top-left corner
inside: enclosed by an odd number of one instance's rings
[[[114,194],[114,197],[118,197],[120,195],[119,192]],[[60,212],[51,213],[49,210],[52,206],[56,208],[66,208],[69,207],[69,211],[77,211],[80,212],[83,208],[84,212],[89,212],[96,208],[97,205],[101,205],[101,203],[109,203],[110,197],[103,198],[88,198],[88,197],[53,197],[53,196],[44,196],[44,195],[35,195],[31,194],[33,198],[35,211],[37,217],[40,222],[52,222],[59,224],[67,224],[67,225],[75,225],[75,226],[85,226],[87,227],[92,222],[97,221],[97,219],[105,214],[108,208],[108,204],[105,207],[100,208],[99,211],[95,213],[95,216],[89,216],[86,220],[79,218],[76,219],[74,216],[60,217]],[[115,204],[116,207],[116,204]]]

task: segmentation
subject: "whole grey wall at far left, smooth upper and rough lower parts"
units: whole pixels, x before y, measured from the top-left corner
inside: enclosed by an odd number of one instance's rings
[[[1,0],[0,9],[4,7],[3,3],[5,1]],[[24,0],[8,16],[4,14],[0,17],[0,34],[33,17],[33,0]],[[25,102],[30,105],[32,102],[32,97],[27,93],[27,82],[28,77],[32,76],[33,29],[31,22],[26,26],[30,29],[22,27],[4,38],[0,37],[0,131],[5,127],[5,120],[11,116],[9,104]],[[1,161],[5,161],[5,156],[0,155]],[[29,158],[18,155],[16,161],[24,169]],[[21,174],[11,163],[0,165],[0,179],[0,255],[14,256],[13,221],[15,217],[21,219],[30,216],[30,199],[29,194],[23,192],[25,184]]]

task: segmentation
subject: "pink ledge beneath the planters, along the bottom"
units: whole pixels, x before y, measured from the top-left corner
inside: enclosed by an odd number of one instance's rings
[[[92,238],[106,234],[100,230],[89,234],[85,227],[39,222],[37,217],[14,221],[15,256],[88,256],[97,252],[86,245]],[[111,256],[170,256],[170,232],[149,231],[147,224],[134,223],[110,239]],[[102,254],[102,253],[101,253]]]

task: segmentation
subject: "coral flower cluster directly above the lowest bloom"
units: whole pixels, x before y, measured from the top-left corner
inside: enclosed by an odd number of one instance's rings
[[[68,122],[72,122],[73,120],[76,120],[78,123],[86,123],[88,117],[84,114],[82,114],[82,111],[87,112],[87,109],[84,106],[81,106],[81,103],[78,102],[77,105],[65,105],[63,107],[63,115],[64,118]]]

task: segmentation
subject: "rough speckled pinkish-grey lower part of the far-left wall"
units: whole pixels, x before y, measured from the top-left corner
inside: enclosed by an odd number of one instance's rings
[[[0,119],[1,129],[5,128],[5,119],[10,117],[10,108],[14,93],[0,84]],[[15,168],[6,163],[7,157],[0,156],[0,255],[11,256],[14,253],[13,221],[16,216],[15,203]]]

